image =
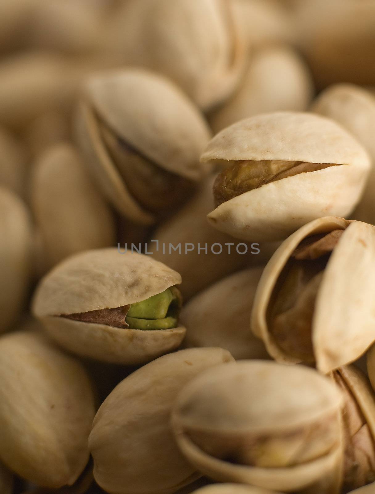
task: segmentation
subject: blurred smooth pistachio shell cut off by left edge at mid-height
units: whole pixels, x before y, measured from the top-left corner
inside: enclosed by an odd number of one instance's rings
[[[0,332],[21,315],[31,278],[32,224],[26,206],[0,188]]]

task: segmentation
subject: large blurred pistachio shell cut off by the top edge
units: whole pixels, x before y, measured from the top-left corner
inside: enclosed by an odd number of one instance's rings
[[[231,1],[129,0],[110,26],[126,65],[176,82],[200,108],[225,100],[242,75],[247,37]]]

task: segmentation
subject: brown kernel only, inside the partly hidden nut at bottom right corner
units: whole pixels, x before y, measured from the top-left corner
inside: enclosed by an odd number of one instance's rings
[[[333,378],[343,392],[345,400],[342,422],[345,442],[344,488],[346,492],[375,481],[375,443],[357,400],[339,369],[333,372]]]

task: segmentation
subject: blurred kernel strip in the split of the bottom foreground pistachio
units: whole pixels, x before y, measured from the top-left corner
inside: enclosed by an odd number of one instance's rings
[[[241,465],[283,468],[312,461],[338,447],[337,413],[303,428],[273,435],[188,431],[205,453]]]

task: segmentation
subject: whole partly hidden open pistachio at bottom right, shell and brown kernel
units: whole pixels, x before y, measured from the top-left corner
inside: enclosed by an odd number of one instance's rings
[[[342,429],[344,492],[375,481],[375,394],[367,376],[354,366],[332,372],[344,396]]]

